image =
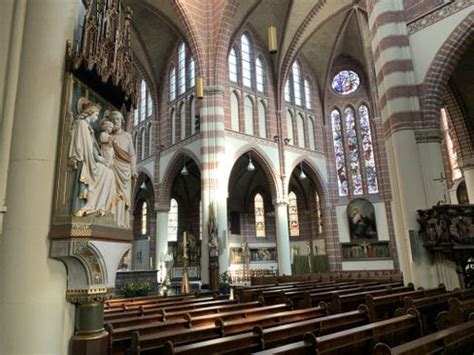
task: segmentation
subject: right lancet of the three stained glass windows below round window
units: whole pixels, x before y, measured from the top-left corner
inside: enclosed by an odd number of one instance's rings
[[[377,183],[377,170],[375,167],[374,147],[372,145],[372,132],[370,130],[369,109],[365,105],[359,107],[360,138],[364,154],[365,172],[367,174],[367,187],[369,194],[379,192]]]

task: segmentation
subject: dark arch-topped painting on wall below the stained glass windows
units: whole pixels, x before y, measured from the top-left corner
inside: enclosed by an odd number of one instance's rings
[[[347,206],[347,217],[352,242],[377,240],[375,209],[372,203],[363,198],[352,200]]]

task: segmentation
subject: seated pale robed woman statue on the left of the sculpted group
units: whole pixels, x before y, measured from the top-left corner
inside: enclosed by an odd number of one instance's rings
[[[77,169],[78,179],[73,196],[75,216],[104,215],[112,212],[117,196],[114,172],[107,167],[99,148],[92,123],[100,112],[100,106],[86,98],[78,101],[78,115],[71,130],[69,165]],[[79,203],[74,203],[79,199]]]

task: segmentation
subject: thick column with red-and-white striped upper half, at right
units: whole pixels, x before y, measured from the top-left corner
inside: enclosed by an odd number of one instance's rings
[[[454,270],[422,254],[412,259],[410,230],[417,231],[417,209],[443,199],[443,185],[433,181],[443,171],[439,127],[426,128],[421,121],[418,89],[401,0],[369,0],[367,4],[372,51],[386,139],[392,211],[400,268],[405,282],[433,287],[448,284]],[[436,131],[436,132],[435,132]],[[408,158],[409,157],[409,158]],[[443,269],[440,272],[439,268]]]

